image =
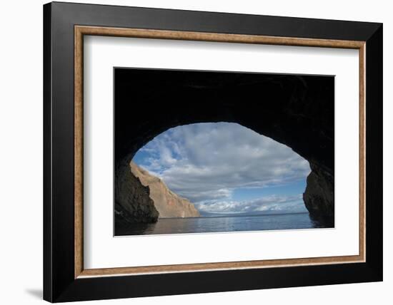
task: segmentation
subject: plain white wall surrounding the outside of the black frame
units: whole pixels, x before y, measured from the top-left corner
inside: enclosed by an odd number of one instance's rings
[[[0,232],[1,299],[4,304],[43,304],[42,294],[42,4],[1,4]],[[222,11],[322,19],[384,22],[384,54],[393,53],[389,1],[85,0],[94,4]],[[393,59],[384,58],[384,282],[261,291],[91,301],[88,304],[388,304],[393,287]],[[390,71],[389,71],[390,70]],[[386,301],[385,301],[386,300]],[[86,303],[87,304],[87,303]]]

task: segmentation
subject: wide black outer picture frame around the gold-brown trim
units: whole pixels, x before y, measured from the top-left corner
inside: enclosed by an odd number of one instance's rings
[[[75,279],[75,25],[365,41],[366,261]],[[82,301],[382,281],[382,31],[382,24],[367,22],[45,4],[44,299]]]

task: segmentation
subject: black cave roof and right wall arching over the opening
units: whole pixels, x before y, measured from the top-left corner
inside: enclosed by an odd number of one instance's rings
[[[334,226],[334,77],[272,73],[114,69],[115,200],[139,148],[169,128],[239,123],[292,148],[311,172],[311,217]],[[127,176],[127,177],[126,177]]]

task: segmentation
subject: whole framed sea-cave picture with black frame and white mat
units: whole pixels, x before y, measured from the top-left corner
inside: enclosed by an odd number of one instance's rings
[[[382,281],[382,24],[44,5],[44,299]]]

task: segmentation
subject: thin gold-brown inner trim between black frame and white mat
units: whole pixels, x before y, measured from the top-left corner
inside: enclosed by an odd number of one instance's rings
[[[201,264],[175,264],[146,267],[84,269],[83,261],[83,63],[84,35],[117,36],[129,38],[172,39],[186,41],[212,41],[227,43],[256,43],[279,46],[313,46],[324,48],[352,48],[359,50],[359,254],[339,257],[309,257],[301,259],[269,259],[244,262],[217,262]],[[223,269],[257,269],[264,267],[290,267],[316,264],[343,264],[365,262],[366,222],[366,116],[365,116],[365,56],[364,41],[342,41],[313,38],[242,35],[229,33],[202,33],[151,29],[123,29],[100,26],[74,26],[74,277],[120,276],[174,272],[202,272]]]

